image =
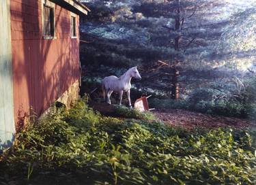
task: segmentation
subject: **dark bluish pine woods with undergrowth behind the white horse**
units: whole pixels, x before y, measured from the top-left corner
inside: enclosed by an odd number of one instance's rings
[[[92,10],[81,24],[85,92],[137,65],[133,99],[154,95],[156,108],[254,118],[253,2],[85,2]]]

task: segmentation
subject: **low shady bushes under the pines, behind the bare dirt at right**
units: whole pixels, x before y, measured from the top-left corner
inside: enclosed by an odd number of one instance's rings
[[[150,99],[150,105],[156,108],[185,109],[204,114],[255,120],[255,83],[255,78],[247,79],[242,85],[240,84],[242,87],[237,87],[235,84],[233,86],[230,84],[221,86],[220,82],[218,82],[219,89],[214,87],[217,84],[214,83],[214,86],[197,88],[184,99],[177,101],[173,99]]]

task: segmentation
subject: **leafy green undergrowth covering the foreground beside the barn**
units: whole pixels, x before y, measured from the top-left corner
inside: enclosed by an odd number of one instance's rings
[[[120,108],[120,114],[132,118]],[[136,114],[135,114],[136,115]],[[101,116],[77,102],[16,136],[2,184],[255,184],[253,131],[186,131],[150,116]]]

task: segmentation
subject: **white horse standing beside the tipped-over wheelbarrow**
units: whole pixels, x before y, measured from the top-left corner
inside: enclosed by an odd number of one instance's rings
[[[102,92],[106,103],[111,104],[110,97],[114,91],[119,92],[119,105],[122,105],[123,92],[126,92],[129,106],[132,107],[132,104],[130,103],[130,88],[132,87],[130,80],[132,80],[132,78],[141,80],[141,75],[139,74],[137,67],[128,69],[128,71],[119,78],[115,75],[105,77],[102,81]]]

